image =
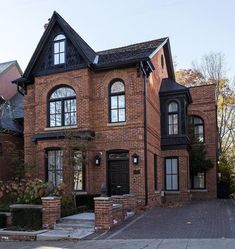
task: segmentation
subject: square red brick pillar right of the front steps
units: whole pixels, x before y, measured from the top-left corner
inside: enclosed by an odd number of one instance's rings
[[[109,230],[113,225],[113,201],[110,197],[95,197],[95,229]]]

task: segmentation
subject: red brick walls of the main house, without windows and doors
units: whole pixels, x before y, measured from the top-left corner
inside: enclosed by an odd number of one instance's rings
[[[32,140],[33,136],[37,134],[47,136],[47,134],[65,130],[65,127],[48,127],[48,96],[56,87],[67,85],[76,93],[77,107],[77,125],[67,129],[75,132],[95,132],[92,148],[86,153],[88,159],[85,166],[86,193],[100,194],[102,185],[109,187],[108,153],[114,150],[125,150],[129,155],[129,193],[135,194],[139,205],[143,206],[148,203],[149,206],[153,206],[162,202],[160,194],[162,190],[165,190],[165,158],[167,157],[178,159],[179,189],[165,192],[164,198],[167,201],[187,201],[191,197],[196,198],[197,193],[190,192],[188,149],[162,150],[161,148],[162,113],[159,91],[162,79],[174,78],[172,73],[169,73],[170,60],[170,55],[163,47],[151,54],[151,63],[155,69],[152,70],[146,82],[147,165],[145,165],[144,78],[138,68],[141,63],[117,67],[118,69],[95,71],[83,68],[35,76],[34,81],[27,85],[24,107],[25,161],[35,165],[34,175],[46,179],[46,150],[60,148],[63,151],[63,181],[67,185],[68,191],[73,188],[68,141],[61,138]],[[109,122],[109,87],[114,79],[120,79],[125,85],[126,120],[120,123]],[[206,94],[206,92],[208,93]],[[200,195],[215,197],[216,108],[213,97],[214,88],[211,86],[191,88],[190,93],[192,104],[188,107],[188,112],[200,115],[204,119],[208,156],[215,164],[207,174],[207,190],[201,191]],[[183,118],[186,119],[186,117]],[[132,162],[134,154],[139,156],[138,164]],[[99,166],[95,165],[94,157],[96,155],[101,158]],[[154,155],[157,160],[157,172],[154,171]]]

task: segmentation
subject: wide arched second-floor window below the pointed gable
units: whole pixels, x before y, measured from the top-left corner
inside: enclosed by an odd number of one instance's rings
[[[77,123],[76,93],[67,86],[57,88],[49,97],[49,127]]]

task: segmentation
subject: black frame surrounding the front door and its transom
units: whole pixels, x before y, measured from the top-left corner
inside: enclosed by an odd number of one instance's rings
[[[118,159],[109,159],[109,154],[118,154],[118,153],[127,153],[128,157],[126,158],[118,158]],[[109,184],[109,162],[110,161],[128,161],[128,177],[129,177],[129,181],[128,181],[128,189],[130,192],[130,161],[129,161],[129,150],[124,150],[124,149],[114,149],[114,150],[108,150],[106,152],[106,183],[107,183],[107,195],[111,196],[110,193],[110,184]]]

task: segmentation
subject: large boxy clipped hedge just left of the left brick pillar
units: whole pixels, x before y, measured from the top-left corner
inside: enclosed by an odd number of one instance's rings
[[[42,228],[41,208],[12,208],[12,225],[24,230],[39,230]]]

